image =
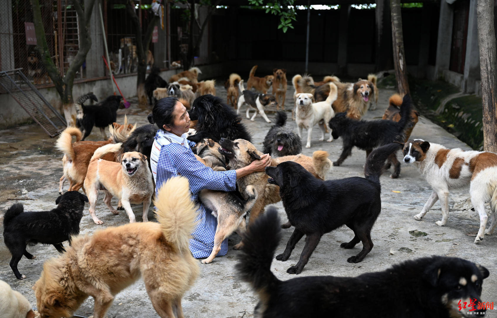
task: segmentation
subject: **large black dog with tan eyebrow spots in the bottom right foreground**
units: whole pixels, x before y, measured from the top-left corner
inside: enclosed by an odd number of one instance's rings
[[[276,209],[270,207],[243,235],[236,267],[239,277],[259,296],[254,317],[457,318],[469,311],[467,307],[460,311],[459,301],[461,307],[473,302],[475,310],[483,302],[482,283],[489,271],[457,257],[417,258],[357,277],[281,281],[271,272],[271,259],[281,240],[279,224]]]

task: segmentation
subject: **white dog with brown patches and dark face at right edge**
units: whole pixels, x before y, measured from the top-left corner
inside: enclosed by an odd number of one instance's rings
[[[480,230],[475,243],[484,235],[492,235],[497,225],[497,154],[488,151],[463,151],[447,149],[437,143],[422,139],[411,139],[404,144],[404,162],[415,163],[426,178],[433,192],[414,219],[421,220],[439,199],[442,205],[442,220],[436,225],[444,226],[449,217],[449,190],[470,187],[473,207],[480,215]],[[492,223],[487,225],[485,203],[490,202]]]

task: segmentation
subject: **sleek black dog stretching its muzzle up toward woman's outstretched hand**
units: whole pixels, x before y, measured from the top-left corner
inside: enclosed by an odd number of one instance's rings
[[[341,248],[352,249],[362,242],[362,251],[350,256],[349,263],[358,263],[373,249],[371,228],[381,211],[380,176],[385,160],[401,147],[390,143],[371,152],[364,167],[365,178],[351,177],[321,181],[296,162],[285,161],[266,167],[267,182],[280,187],[280,196],[291,225],[295,226],[285,252],[276,256],[285,261],[295,244],[306,235],[306,245],[297,265],[287,273],[300,274],[323,234],[346,225],[354,231],[349,243]]]

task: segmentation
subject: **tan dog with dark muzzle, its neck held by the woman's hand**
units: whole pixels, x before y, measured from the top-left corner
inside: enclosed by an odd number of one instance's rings
[[[252,161],[260,159],[262,152],[258,151],[253,144],[244,139],[229,140],[222,138],[219,142],[220,152],[228,159],[230,169],[240,169],[248,166]],[[283,161],[294,161],[301,164],[307,171],[316,178],[325,180],[326,174],[330,171],[332,163],[328,159],[328,152],[315,151],[312,158],[303,154],[295,156],[284,156],[271,158],[270,166],[277,166]],[[250,210],[250,223],[252,223],[260,213],[264,211],[267,204],[279,202],[279,187],[267,183],[267,175],[264,172],[254,172],[237,180],[240,193],[244,198],[248,198],[247,188],[253,186],[257,193],[257,200]],[[240,244],[235,247],[240,248]]]

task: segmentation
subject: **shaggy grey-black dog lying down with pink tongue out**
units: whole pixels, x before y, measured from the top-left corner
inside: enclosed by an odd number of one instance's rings
[[[264,138],[263,153],[273,157],[297,155],[302,152],[302,140],[292,129],[285,127],[287,115],[278,111],[275,116],[276,124],[269,129]]]

